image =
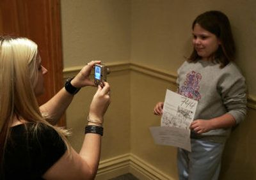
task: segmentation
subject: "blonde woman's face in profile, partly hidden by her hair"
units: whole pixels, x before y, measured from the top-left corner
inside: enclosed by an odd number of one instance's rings
[[[38,71],[38,79],[34,91],[36,96],[40,96],[44,93],[44,75],[47,73],[47,69],[42,66],[41,57],[39,54],[36,56],[36,68]]]

